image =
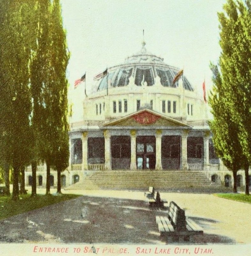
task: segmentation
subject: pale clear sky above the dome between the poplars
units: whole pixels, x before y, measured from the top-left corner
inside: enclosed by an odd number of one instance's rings
[[[219,22],[225,0],[61,0],[71,52],[68,65],[69,99],[73,120],[82,118],[84,84],[74,80],[86,72],[87,93],[93,76],[141,49],[143,29],[147,51],[166,64],[184,67],[184,74],[202,95],[205,77],[210,88],[210,61],[220,54]]]

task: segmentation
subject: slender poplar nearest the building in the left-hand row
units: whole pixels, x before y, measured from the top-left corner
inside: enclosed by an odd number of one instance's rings
[[[54,0],[51,22],[51,45],[53,66],[53,101],[52,115],[55,129],[53,167],[57,171],[57,193],[61,193],[61,172],[67,168],[69,160],[68,135],[68,101],[66,68],[69,61],[69,52],[66,45],[66,32],[63,29],[61,6],[59,0]]]

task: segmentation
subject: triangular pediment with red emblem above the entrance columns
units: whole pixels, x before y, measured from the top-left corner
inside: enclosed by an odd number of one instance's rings
[[[104,124],[104,126],[165,126],[192,128],[192,126],[184,122],[181,122],[168,116],[164,116],[150,109],[142,109],[130,115],[117,118],[113,121]]]

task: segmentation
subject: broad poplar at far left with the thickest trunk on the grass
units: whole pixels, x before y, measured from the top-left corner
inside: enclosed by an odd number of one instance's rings
[[[5,133],[8,137],[8,156],[13,167],[12,198],[18,199],[18,176],[29,163],[30,158],[30,52],[33,47],[32,34],[33,8],[31,1],[10,1],[5,13],[3,30],[5,39],[1,42],[3,60],[2,75],[4,83],[1,90],[5,92],[1,108],[4,116]],[[2,94],[2,93],[1,93]],[[23,175],[24,176],[24,175]]]

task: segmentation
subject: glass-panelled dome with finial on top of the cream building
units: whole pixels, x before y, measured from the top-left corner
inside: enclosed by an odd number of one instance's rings
[[[173,83],[173,79],[180,69],[165,64],[162,58],[146,51],[144,42],[142,45],[141,52],[126,58],[121,65],[108,68],[108,74],[98,80],[97,91],[107,89],[107,80],[110,81],[111,87],[126,86],[130,79],[137,86],[154,86],[156,81],[160,80],[164,87],[178,87],[178,81]],[[193,91],[186,77],[183,87]]]

